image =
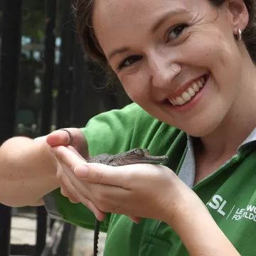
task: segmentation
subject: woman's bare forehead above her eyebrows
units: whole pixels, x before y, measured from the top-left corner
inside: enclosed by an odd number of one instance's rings
[[[170,11],[188,11],[206,0],[95,0],[92,24],[105,50],[109,41],[129,40]],[[138,36],[138,35],[137,35]],[[108,47],[108,46],[107,46]]]

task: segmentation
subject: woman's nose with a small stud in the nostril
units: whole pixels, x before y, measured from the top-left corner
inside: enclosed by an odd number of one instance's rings
[[[164,56],[154,56],[149,65],[152,75],[152,84],[161,89],[169,88],[176,75],[181,72],[181,65],[173,63]]]

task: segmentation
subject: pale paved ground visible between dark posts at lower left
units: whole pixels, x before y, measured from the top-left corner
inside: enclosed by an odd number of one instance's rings
[[[100,233],[99,256],[103,255],[105,233]],[[35,218],[13,217],[11,221],[11,243],[28,244],[36,243],[36,220]],[[73,256],[92,256],[93,231],[77,228]]]

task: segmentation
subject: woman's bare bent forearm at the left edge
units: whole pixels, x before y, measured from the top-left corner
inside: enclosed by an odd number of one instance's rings
[[[8,206],[41,204],[58,187],[57,161],[46,142],[14,137],[0,147],[0,203]]]

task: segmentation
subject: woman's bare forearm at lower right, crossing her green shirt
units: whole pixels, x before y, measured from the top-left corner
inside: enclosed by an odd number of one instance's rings
[[[187,204],[189,206],[189,204]],[[240,255],[215,223],[203,203],[178,210],[179,216],[171,222],[191,256]]]

